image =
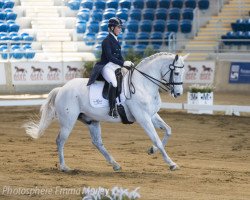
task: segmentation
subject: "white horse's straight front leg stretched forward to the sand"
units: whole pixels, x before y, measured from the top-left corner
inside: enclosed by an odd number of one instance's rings
[[[153,144],[159,149],[161,152],[164,161],[170,166],[170,170],[176,170],[178,169],[178,165],[174,163],[171,158],[168,156],[167,152],[164,149],[164,146],[154,128],[154,125],[152,123],[152,120],[149,115],[146,113],[141,114],[139,118],[136,119],[137,122],[144,128],[146,131],[147,135],[150,137],[152,140]]]

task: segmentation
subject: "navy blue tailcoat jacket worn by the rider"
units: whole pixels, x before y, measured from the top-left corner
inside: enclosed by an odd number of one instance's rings
[[[124,59],[121,54],[121,46],[119,42],[111,34],[109,34],[102,41],[101,61],[96,63],[95,66],[93,67],[87,85],[91,85],[92,83],[95,82],[95,80],[103,80],[101,72],[103,67],[109,62],[120,65],[121,67],[123,66],[124,63]]]

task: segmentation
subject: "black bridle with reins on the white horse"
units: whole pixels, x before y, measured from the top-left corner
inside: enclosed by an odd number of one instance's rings
[[[142,71],[140,71],[139,69],[132,67],[131,66],[131,70],[129,70],[129,75],[128,75],[128,87],[129,87],[129,97],[126,97],[127,99],[131,98],[132,94],[135,94],[135,87],[134,84],[132,83],[132,75],[134,73],[134,70],[138,71],[140,74],[142,74],[145,78],[147,78],[148,80],[150,80],[152,83],[156,84],[157,86],[159,86],[162,90],[168,92],[169,90],[171,90],[171,88],[175,85],[182,85],[183,82],[174,82],[174,71],[176,68],[184,68],[184,65],[182,66],[176,66],[175,62],[178,60],[178,55],[175,56],[173,63],[170,64],[169,70],[162,76],[162,80],[158,80]],[[169,75],[169,81],[165,80],[164,77],[170,73]],[[171,91],[172,92],[172,91]]]

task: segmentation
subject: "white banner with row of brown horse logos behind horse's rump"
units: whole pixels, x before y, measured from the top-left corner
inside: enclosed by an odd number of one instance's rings
[[[81,77],[82,62],[11,63],[12,83],[15,85],[63,84]]]

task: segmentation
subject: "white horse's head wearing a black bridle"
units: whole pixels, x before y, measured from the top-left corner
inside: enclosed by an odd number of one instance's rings
[[[189,54],[185,56],[175,55],[174,60],[167,66],[163,74],[163,80],[175,98],[183,94],[184,60],[188,55]]]

